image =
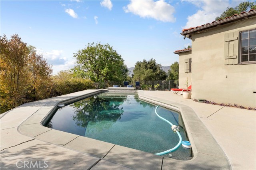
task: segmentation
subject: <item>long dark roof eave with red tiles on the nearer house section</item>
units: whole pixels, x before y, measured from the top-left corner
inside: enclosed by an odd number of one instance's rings
[[[223,24],[228,24],[230,22],[235,22],[235,21],[238,21],[238,20],[241,20],[241,19],[247,19],[249,18],[250,16],[254,16],[256,15],[256,10],[252,11],[252,12],[247,12],[245,14],[242,14],[242,15],[238,15],[238,16],[234,16],[232,18],[227,18],[225,20],[221,20],[221,21],[218,21],[218,22],[214,22],[212,24],[208,24],[208,25],[205,25],[205,26],[202,26],[202,27],[198,27],[198,28],[194,28],[192,30],[187,30],[187,31],[184,31],[182,33],[180,33],[182,36],[186,36],[186,35],[190,35],[194,32],[200,32],[202,30],[206,30],[206,29],[209,29],[209,28],[213,28],[213,27],[216,27],[216,26],[221,26]],[[187,37],[187,38],[190,38],[191,39],[191,36]]]

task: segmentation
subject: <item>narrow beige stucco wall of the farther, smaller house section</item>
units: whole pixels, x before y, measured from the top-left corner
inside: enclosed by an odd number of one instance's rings
[[[188,77],[188,86],[191,85],[191,73],[185,73],[185,59],[192,58],[191,51],[179,53],[179,88],[185,89],[186,88],[186,81]],[[192,59],[192,66],[193,69],[193,59]]]

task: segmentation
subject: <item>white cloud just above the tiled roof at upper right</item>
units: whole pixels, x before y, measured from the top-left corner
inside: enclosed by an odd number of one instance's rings
[[[217,16],[220,16],[227,7],[235,7],[237,2],[221,1],[221,0],[200,0],[188,1],[200,8],[195,14],[187,17],[186,26],[182,28],[190,28],[201,26],[203,24],[212,23]]]

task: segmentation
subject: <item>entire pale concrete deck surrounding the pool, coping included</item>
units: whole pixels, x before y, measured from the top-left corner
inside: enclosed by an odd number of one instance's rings
[[[256,168],[256,111],[197,103],[170,91],[140,91],[139,95],[143,100],[156,104],[159,102],[185,113],[182,117],[188,125],[186,128],[190,141],[195,145],[192,145],[194,158],[189,161],[163,158],[46,128],[40,124],[50,117],[48,113],[59,103],[66,104],[65,102],[76,100],[79,96],[83,98],[100,91],[102,90],[86,90],[26,103],[2,114],[1,168],[24,169],[26,161],[30,164],[25,167],[31,165],[30,161],[33,163],[29,169],[33,169],[35,162],[38,163],[38,168],[41,163],[40,169]],[[194,115],[186,114],[188,112],[193,112]],[[194,126],[191,124],[193,121]],[[46,164],[44,161],[47,161]]]

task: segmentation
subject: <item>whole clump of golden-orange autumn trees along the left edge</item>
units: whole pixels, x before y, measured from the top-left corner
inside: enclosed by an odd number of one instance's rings
[[[52,74],[42,55],[14,34],[8,40],[0,36],[0,107],[1,113],[26,102],[44,99],[50,92]]]

